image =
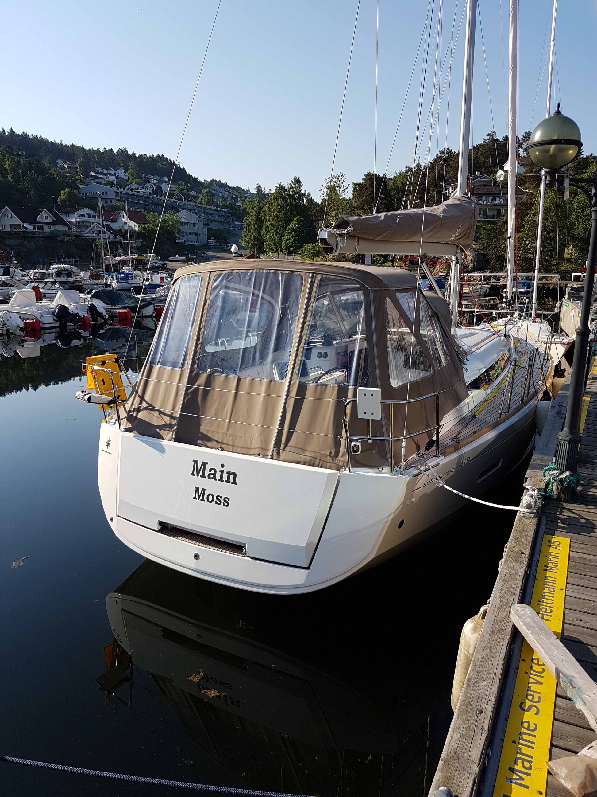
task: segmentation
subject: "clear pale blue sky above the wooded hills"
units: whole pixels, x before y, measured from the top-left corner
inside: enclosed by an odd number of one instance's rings
[[[427,61],[423,124],[431,104],[435,26]],[[373,169],[376,0],[361,0],[353,63],[336,166],[349,180]],[[380,0],[377,171],[385,170],[400,108],[427,14],[427,0]],[[456,12],[455,12],[456,6]],[[299,175],[318,197],[330,173],[356,0],[222,0],[180,160],[200,178],[244,187],[273,188]],[[462,17],[464,0],[443,0],[442,53]],[[217,0],[106,0],[101,6],[73,0],[21,0],[2,10],[5,80],[0,127],[88,147],[174,157]],[[508,0],[480,0],[477,23],[473,140],[507,125]],[[519,131],[544,116],[551,0],[523,0],[520,20]],[[554,102],[579,124],[585,151],[595,151],[595,86],[592,55],[597,26],[593,2],[560,0],[556,29]],[[458,147],[464,23],[431,154]],[[412,161],[421,68],[411,92],[388,171]],[[443,55],[439,61],[442,61]],[[447,75],[444,62],[439,93]],[[543,79],[540,80],[543,71]],[[439,74],[439,66],[437,69]],[[437,105],[437,98],[436,98]],[[421,135],[421,159],[429,127]]]

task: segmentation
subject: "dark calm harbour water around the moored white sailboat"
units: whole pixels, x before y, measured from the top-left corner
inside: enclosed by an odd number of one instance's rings
[[[101,410],[74,398],[80,363],[109,344],[123,342],[0,359],[0,754],[322,797],[426,795],[462,623],[490,595],[513,513],[474,505],[419,548],[303,596],[150,563],[108,527]],[[135,341],[133,370],[147,345]],[[494,500],[517,502],[523,473]],[[133,668],[107,697],[96,678],[111,622]],[[14,764],[0,783],[14,797],[185,793]]]

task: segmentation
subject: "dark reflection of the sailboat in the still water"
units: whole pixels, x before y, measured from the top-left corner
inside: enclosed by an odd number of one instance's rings
[[[157,689],[162,717],[173,711],[166,721],[200,748],[187,757],[201,762],[203,780],[418,795],[451,718],[449,684],[420,661],[417,638],[400,654],[404,625],[388,626],[382,609],[396,601],[389,580],[365,574],[314,598],[280,599],[146,560],[107,596],[115,640],[98,683],[115,701],[128,703],[131,689],[133,710],[144,686]]]

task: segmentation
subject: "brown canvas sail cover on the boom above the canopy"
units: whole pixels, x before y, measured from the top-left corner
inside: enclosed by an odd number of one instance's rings
[[[473,198],[456,196],[432,207],[388,210],[370,216],[339,216],[332,230],[350,238],[392,244],[422,241],[423,250],[426,243],[466,249],[474,241],[477,216],[478,206]]]

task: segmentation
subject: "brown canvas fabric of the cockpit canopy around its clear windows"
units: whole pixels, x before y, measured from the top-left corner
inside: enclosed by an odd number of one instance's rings
[[[280,381],[248,379],[238,374],[201,371],[205,350],[201,348],[205,331],[205,308],[209,306],[210,292],[221,272],[291,273],[302,277],[302,289],[292,299],[296,317],[295,336],[291,340],[291,378]],[[170,292],[168,304],[158,327],[158,335],[150,355],[146,358],[125,409],[123,429],[147,437],[181,442],[193,446],[217,448],[224,451],[263,456],[301,465],[342,469],[346,466],[343,418],[345,401],[356,398],[357,386],[305,383],[298,379],[304,365],[302,354],[307,340],[311,311],[317,296],[318,284],[330,277],[338,278],[344,285],[354,285],[363,290],[366,317],[366,351],[368,377],[372,386],[380,385],[382,398],[407,397],[406,383],[392,387],[388,367],[388,332],[386,329],[386,303],[396,305],[396,295],[410,292],[418,296],[415,311],[415,337],[417,344],[429,351],[419,333],[420,304],[426,304],[423,292],[416,289],[416,276],[404,269],[372,268],[348,263],[306,263],[298,261],[210,261],[178,269],[174,286],[185,278],[195,279],[194,299],[187,295],[183,307],[184,317],[178,321],[180,328],[189,330],[185,344],[186,354],[181,367],[166,367],[166,359],[156,356],[163,350],[172,356],[168,344],[162,340],[170,324],[170,305],[179,301],[180,291]],[[280,283],[282,284],[282,279]],[[416,292],[416,293],[415,293]],[[178,299],[177,299],[177,293]],[[282,294],[281,294],[282,295]],[[284,299],[283,301],[286,301]],[[426,304],[428,312],[433,312]],[[279,312],[286,313],[281,303]],[[373,322],[372,312],[377,319]],[[412,330],[411,320],[405,319]],[[277,324],[275,314],[271,324]],[[278,328],[278,327],[276,327]],[[265,334],[265,333],[264,333]],[[277,334],[277,332],[275,333]],[[429,375],[413,381],[409,398],[439,393],[440,419],[466,398],[466,383],[462,365],[451,336],[443,335],[451,355],[443,367],[431,367]],[[181,351],[176,351],[180,358]],[[427,355],[431,362],[431,355]],[[369,376],[370,375],[370,376]],[[369,380],[368,379],[368,380]],[[373,422],[373,435],[389,434],[389,405],[384,405],[382,422]],[[395,434],[426,429],[435,424],[435,397],[409,405],[404,417],[404,405],[396,405]],[[356,402],[350,407],[350,433],[367,437],[366,422],[357,418]],[[408,441],[408,455],[422,447],[433,436],[428,433],[418,442]],[[401,441],[394,444],[395,461],[400,462]],[[387,465],[388,449],[385,443],[366,444],[363,441],[364,464]]]

